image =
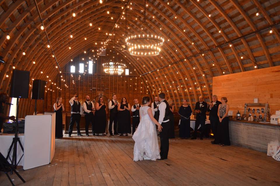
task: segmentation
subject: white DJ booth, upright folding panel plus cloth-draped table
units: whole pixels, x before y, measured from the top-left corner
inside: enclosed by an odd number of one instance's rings
[[[0,152],[4,157],[7,156],[13,137],[14,134],[0,135]],[[26,116],[24,134],[19,137],[24,147],[24,156],[18,165],[27,170],[49,164],[55,154],[55,113]],[[22,149],[17,143],[17,161],[21,156]]]

